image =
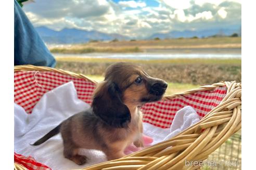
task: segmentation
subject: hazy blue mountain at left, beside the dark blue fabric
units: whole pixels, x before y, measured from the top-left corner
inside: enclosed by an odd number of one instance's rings
[[[54,31],[45,26],[36,27],[35,30],[39,33],[42,39],[47,44],[79,44],[87,43],[89,40],[127,40],[127,36],[120,34],[107,34],[98,31],[86,31],[78,29],[63,29]]]

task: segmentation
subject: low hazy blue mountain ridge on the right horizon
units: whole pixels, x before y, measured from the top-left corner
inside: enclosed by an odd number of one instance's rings
[[[149,36],[147,39],[153,39],[153,38],[160,38],[160,39],[165,39],[165,38],[190,38],[197,36],[199,38],[202,37],[209,37],[209,36],[214,36],[214,35],[220,35],[220,36],[229,36],[232,35],[233,33],[240,33],[239,29],[210,29],[210,30],[196,30],[196,31],[190,31],[190,30],[185,30],[185,31],[171,31],[169,33],[155,33],[151,36]]]

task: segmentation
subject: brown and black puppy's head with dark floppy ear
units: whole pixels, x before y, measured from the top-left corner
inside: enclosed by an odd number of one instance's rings
[[[107,124],[125,127],[131,121],[131,107],[161,100],[166,89],[165,81],[150,77],[140,66],[112,64],[94,92],[93,111]]]

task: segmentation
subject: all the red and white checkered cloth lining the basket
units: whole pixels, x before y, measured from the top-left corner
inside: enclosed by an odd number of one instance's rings
[[[74,82],[78,97],[84,102],[91,104],[91,97],[96,84],[70,75],[39,71],[15,72],[14,102],[23,107],[28,114],[31,114],[33,107],[44,93],[69,81]],[[203,117],[211,109],[219,105],[225,95],[226,88],[219,87],[212,91],[200,91],[181,95],[168,101],[148,103],[141,108],[144,114],[143,121],[162,128],[169,128],[176,112],[183,107],[191,106],[197,111],[199,116]],[[48,168],[40,163],[29,163],[33,165],[30,166],[33,167],[32,169]]]

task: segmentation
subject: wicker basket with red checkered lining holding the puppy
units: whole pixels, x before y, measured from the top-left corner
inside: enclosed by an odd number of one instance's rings
[[[14,71],[15,102],[28,113],[45,92],[68,81],[74,82],[78,97],[91,104],[91,95],[97,84],[82,74],[50,67],[23,65],[15,66]],[[162,101],[142,107],[143,121],[162,128],[170,127],[175,112],[185,105],[193,106],[202,117],[198,123],[169,140],[84,169],[199,169],[199,165],[185,166],[185,160],[207,159],[228,137],[241,129],[241,83],[219,82],[164,96]],[[19,169],[17,163],[15,167]]]

